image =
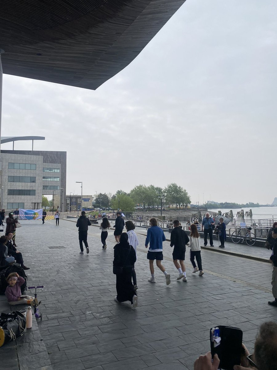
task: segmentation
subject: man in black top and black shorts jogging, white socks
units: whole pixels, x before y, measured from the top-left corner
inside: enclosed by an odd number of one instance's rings
[[[170,246],[171,248],[174,246],[172,257],[173,263],[177,270],[179,271],[179,276],[177,280],[183,279],[183,281],[187,281],[186,275],[186,268],[185,268],[185,252],[186,252],[186,244],[189,243],[189,238],[187,233],[179,227],[179,220],[173,221],[174,229],[171,231],[170,234]],[[178,263],[179,260],[179,263]]]

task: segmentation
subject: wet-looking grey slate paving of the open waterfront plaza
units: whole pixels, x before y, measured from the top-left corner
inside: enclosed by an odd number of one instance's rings
[[[172,249],[164,242],[163,263],[171,284],[165,284],[158,269],[157,283],[151,284],[145,236],[138,234],[138,307],[133,309],[113,300],[113,231],[104,251],[99,228],[91,226],[90,253],[80,255],[74,222],[22,225],[18,249],[31,267],[28,285],[45,286],[38,293],[44,314],[38,328],[54,370],[191,370],[196,357],[209,350],[212,326],[240,327],[251,351],[260,323],[277,321],[277,309],[267,305],[272,299],[269,263],[202,250],[204,276],[191,273],[187,255],[185,283],[175,280]],[[260,252],[270,255],[267,249]]]

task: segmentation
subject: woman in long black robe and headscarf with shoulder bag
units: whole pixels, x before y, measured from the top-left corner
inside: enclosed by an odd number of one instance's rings
[[[116,302],[130,301],[137,307],[137,294],[132,283],[132,271],[136,252],[128,242],[128,234],[121,234],[120,242],[114,246],[113,273],[116,275]]]

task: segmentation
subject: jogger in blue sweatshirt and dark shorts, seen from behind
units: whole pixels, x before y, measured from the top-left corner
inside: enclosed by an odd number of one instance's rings
[[[154,260],[156,260],[157,267],[163,271],[166,279],[167,285],[170,284],[170,274],[168,274],[161,264],[163,258],[163,242],[165,241],[165,235],[163,230],[158,226],[157,219],[150,218],[149,220],[150,228],[147,230],[147,236],[145,240],[145,248],[148,248],[148,244],[150,244],[147,259],[149,260],[149,267],[151,272],[151,277],[149,277],[148,281],[150,283],[155,283],[154,277]]]

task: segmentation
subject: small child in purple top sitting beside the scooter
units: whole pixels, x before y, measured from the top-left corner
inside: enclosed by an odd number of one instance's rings
[[[25,283],[23,277],[19,276],[17,272],[12,272],[6,279],[9,286],[7,286],[5,295],[10,305],[21,305],[27,304],[31,306],[38,306],[41,302],[38,302],[37,298],[30,296],[23,296],[21,294],[20,287]]]

